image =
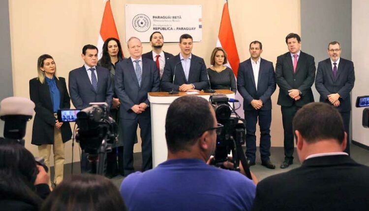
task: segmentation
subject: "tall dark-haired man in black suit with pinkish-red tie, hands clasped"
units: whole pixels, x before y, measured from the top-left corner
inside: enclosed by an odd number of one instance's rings
[[[314,57],[301,52],[298,34],[286,36],[288,52],[277,57],[276,81],[279,86],[277,104],[281,106],[284,130],[284,161],[281,168],[293,163],[292,119],[302,106],[314,102],[311,86],[315,79]]]

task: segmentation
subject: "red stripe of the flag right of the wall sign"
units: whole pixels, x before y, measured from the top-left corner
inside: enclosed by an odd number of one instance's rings
[[[220,21],[218,39],[222,48],[228,54],[228,63],[231,65],[233,73],[237,77],[238,66],[240,64],[240,58],[236,48],[236,41],[233,35],[233,29],[231,24],[231,18],[228,11],[228,2],[224,3],[223,14]]]

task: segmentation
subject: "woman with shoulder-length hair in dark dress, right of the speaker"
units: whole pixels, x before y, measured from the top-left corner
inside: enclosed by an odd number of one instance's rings
[[[222,48],[215,48],[210,57],[211,67],[208,68],[212,89],[228,89],[237,92],[235,75],[231,68],[224,66],[227,63],[227,53]]]

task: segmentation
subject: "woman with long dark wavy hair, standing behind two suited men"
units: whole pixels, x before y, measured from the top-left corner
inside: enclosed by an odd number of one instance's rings
[[[121,42],[114,38],[110,37],[106,39],[104,45],[102,46],[102,57],[98,62],[98,65],[101,67],[105,67],[110,71],[110,76],[113,81],[113,89],[114,96],[112,102],[112,108],[110,110],[110,114],[118,124],[119,128],[119,136],[118,142],[112,145],[112,152],[107,154],[107,166],[106,166],[106,176],[109,178],[115,177],[118,174],[124,175],[123,172],[123,135],[119,119],[119,107],[121,103],[119,102],[118,96],[115,93],[114,88],[114,76],[115,76],[115,66],[118,62],[123,59]],[[118,163],[117,163],[118,157]]]

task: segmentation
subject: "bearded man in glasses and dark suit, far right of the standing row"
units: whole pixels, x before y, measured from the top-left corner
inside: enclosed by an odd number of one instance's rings
[[[340,58],[341,47],[337,41],[328,44],[327,58],[318,64],[315,87],[320,94],[320,102],[337,107],[347,133],[344,152],[350,155],[350,92],[354,87],[355,73],[352,61]]]

